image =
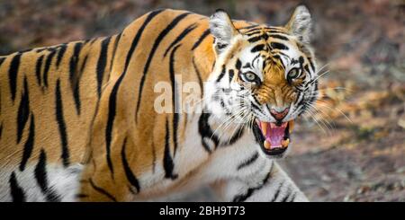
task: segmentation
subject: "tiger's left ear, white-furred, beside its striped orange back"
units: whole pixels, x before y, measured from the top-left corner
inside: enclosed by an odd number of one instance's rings
[[[230,41],[238,35],[228,13],[218,9],[210,17],[210,31],[214,37],[214,48],[220,54],[229,46]]]

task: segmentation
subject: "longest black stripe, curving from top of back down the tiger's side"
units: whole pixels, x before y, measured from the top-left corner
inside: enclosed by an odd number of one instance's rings
[[[112,93],[110,94],[109,98],[109,110],[108,110],[108,117],[107,117],[107,127],[105,128],[105,147],[106,147],[106,157],[107,157],[107,163],[108,167],[110,169],[110,172],[112,172],[112,179],[113,179],[113,168],[112,168],[112,161],[111,161],[111,155],[110,155],[110,147],[111,147],[111,139],[112,139],[112,124],[115,118],[115,109],[116,109],[116,100],[117,100],[117,92],[118,88],[121,84],[121,81],[123,77],[125,76],[128,66],[130,65],[130,58],[132,57],[132,54],[138,46],[138,42],[140,39],[140,36],[142,32],[145,30],[145,27],[147,26],[148,22],[152,20],[153,17],[155,17],[158,13],[163,12],[164,10],[157,10],[153,11],[148,14],[148,17],[145,19],[145,22],[142,23],[142,25],[139,28],[139,31],[135,35],[134,40],[130,44],[130,50],[128,51],[126,60],[125,60],[125,66],[122,74],[120,75],[120,78],[117,80],[117,83],[114,84],[112,88]]]

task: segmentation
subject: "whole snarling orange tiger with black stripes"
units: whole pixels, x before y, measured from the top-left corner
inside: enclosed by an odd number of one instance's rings
[[[304,5],[283,26],[157,9],[0,57],[0,200],[309,201],[277,160],[318,97],[311,23]]]

